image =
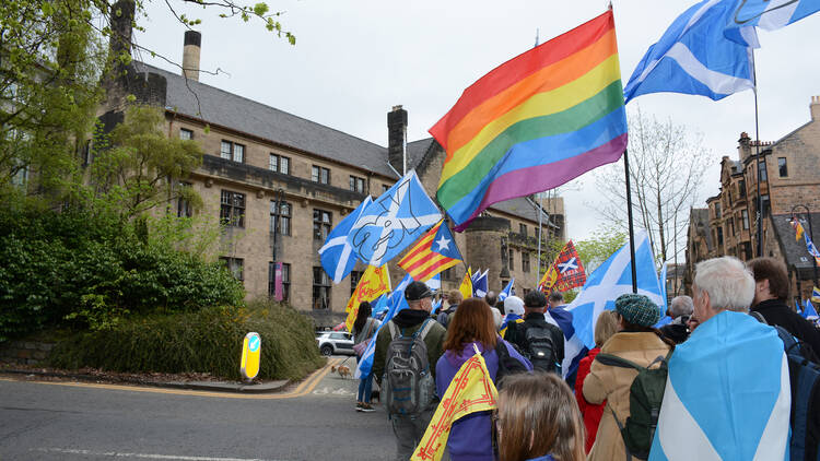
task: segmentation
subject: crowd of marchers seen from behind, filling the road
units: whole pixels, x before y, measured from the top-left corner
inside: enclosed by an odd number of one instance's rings
[[[660,308],[648,297],[619,296],[597,317],[595,347],[576,373],[562,369],[566,338],[555,318],[569,312],[560,294],[530,291],[496,303],[493,293],[462,299],[454,291],[437,316],[433,296],[424,283],[407,286],[409,309],[379,330],[373,374],[360,385],[360,411],[373,409],[373,378],[382,389],[397,460],[411,458],[440,398],[476,353],[499,389],[497,409],[455,421],[444,459],[783,460],[789,351],[772,326],[807,356],[820,351],[820,330],[785,304],[786,269],[771,258],[699,263],[692,297],[675,297],[660,329]],[[356,343],[378,327],[370,315],[370,306],[360,308]]]

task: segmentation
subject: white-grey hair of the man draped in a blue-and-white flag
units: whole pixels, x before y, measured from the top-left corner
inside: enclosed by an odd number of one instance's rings
[[[754,299],[754,277],[743,263],[730,256],[699,262],[694,268],[694,285],[700,296],[708,293],[712,310],[748,312]]]

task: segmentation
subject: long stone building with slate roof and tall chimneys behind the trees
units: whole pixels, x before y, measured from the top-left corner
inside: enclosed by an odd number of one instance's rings
[[[282,262],[288,302],[314,312],[319,324],[338,322],[365,267],[359,263],[335,285],[317,250],[365,197],[393,186],[405,164],[434,197],[444,151],[432,138],[407,142],[408,113],[401,106],[387,114],[384,147],[200,83],[191,71],[199,68],[199,33],[187,32],[185,75],[134,62],[120,81],[125,93],[164,108],[169,137],[194,140],[204,150],[202,165],[186,179],[203,205],[191,210],[181,202],[178,213],[221,220],[220,259],[243,281],[249,298],[272,294],[273,263]],[[120,106],[108,109],[103,119],[121,117]],[[467,265],[488,269],[494,291],[513,279],[518,293],[535,286],[539,221],[544,240],[564,239],[563,216],[561,198],[542,206],[535,198],[493,205],[456,235],[466,264],[443,274],[443,288],[457,287]],[[396,265],[399,259],[390,263],[394,284],[405,274]]]

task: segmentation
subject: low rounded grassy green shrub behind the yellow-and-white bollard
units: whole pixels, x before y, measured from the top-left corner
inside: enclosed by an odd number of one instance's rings
[[[129,318],[58,343],[49,362],[69,369],[210,373],[238,380],[242,341],[251,331],[261,336],[260,379],[301,379],[324,364],[311,320],[276,303]]]

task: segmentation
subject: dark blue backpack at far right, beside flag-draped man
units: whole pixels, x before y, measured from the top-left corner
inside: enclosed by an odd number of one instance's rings
[[[760,312],[750,312],[761,323],[769,324]],[[783,341],[788,360],[792,385],[792,417],[789,425],[789,457],[792,461],[820,460],[820,365],[811,347],[792,335],[785,328],[772,324]]]

